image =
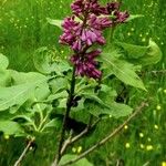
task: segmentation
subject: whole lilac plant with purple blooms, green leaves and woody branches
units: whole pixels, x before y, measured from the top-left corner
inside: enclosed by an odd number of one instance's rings
[[[0,131],[6,135],[25,137],[28,144],[14,166],[18,166],[35,138],[58,129],[56,155],[52,166],[92,165],[84,157],[117,134],[145,105],[133,112],[128,93],[134,86],[146,91],[137,71],[157,63],[162,53],[155,42],[141,46],[110,42],[104,30],[113,32],[129,21],[129,13],[120,10],[120,2],[101,6],[97,0],[74,0],[72,15],[62,23],[60,43],[70,48],[69,62],[59,52],[40,48],[33,56],[39,72],[8,70],[8,59],[0,54]],[[49,22],[59,25],[60,20]],[[106,45],[107,42],[107,46]],[[108,48],[108,49],[107,49]],[[110,49],[111,48],[111,49]],[[133,55],[134,54],[134,55]],[[121,92],[122,91],[122,92]],[[79,156],[65,155],[69,146],[92,133],[103,118],[131,116],[113,133]],[[81,117],[81,122],[74,117]],[[112,118],[111,118],[112,120]],[[7,128],[6,126],[12,126]]]

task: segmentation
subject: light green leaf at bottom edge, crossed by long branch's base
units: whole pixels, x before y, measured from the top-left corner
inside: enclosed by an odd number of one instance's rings
[[[63,165],[76,157],[77,157],[76,155],[66,154],[61,158],[60,165]],[[77,160],[76,163],[71,164],[71,166],[93,166],[93,164],[90,163],[86,158],[82,158],[82,159]]]

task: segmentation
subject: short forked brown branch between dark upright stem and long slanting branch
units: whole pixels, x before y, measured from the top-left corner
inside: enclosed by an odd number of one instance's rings
[[[61,155],[63,155],[63,153],[65,152],[65,149],[73,143],[75,143],[76,141],[79,141],[80,138],[82,138],[85,134],[87,134],[90,132],[91,128],[93,128],[97,123],[100,122],[100,118],[97,118],[93,124],[92,123],[92,116],[90,117],[89,124],[87,126],[76,136],[74,136],[73,138],[69,137],[61,149]]]

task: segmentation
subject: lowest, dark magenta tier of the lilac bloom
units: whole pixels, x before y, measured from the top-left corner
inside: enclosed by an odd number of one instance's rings
[[[81,76],[100,79],[102,76],[102,72],[96,69],[97,62],[94,60],[97,55],[100,55],[100,50],[95,50],[83,55],[74,54],[71,58],[71,62],[76,68],[76,74]]]

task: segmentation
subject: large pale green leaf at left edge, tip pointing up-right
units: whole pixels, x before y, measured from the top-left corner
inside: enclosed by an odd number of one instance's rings
[[[41,86],[48,77],[42,76],[33,82],[23,83],[10,87],[0,87],[0,111],[14,105],[22,105],[34,95],[35,89]]]

